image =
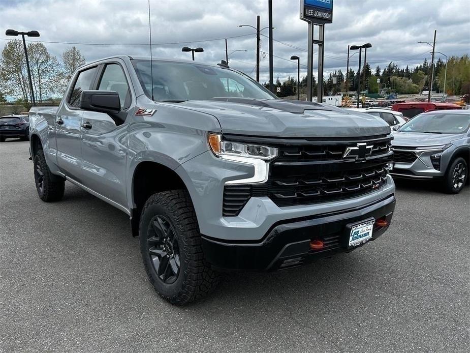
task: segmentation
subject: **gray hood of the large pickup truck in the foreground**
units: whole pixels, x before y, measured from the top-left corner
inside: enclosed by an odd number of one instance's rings
[[[190,100],[179,107],[216,117],[222,132],[278,137],[362,137],[390,133],[380,117],[317,103],[220,98]]]

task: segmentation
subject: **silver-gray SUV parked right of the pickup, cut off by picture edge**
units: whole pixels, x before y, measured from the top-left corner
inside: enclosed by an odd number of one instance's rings
[[[470,112],[434,110],[416,115],[393,133],[394,178],[440,180],[458,193],[468,179]]]

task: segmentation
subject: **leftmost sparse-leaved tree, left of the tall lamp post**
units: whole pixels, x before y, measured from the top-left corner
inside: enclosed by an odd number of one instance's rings
[[[31,95],[26,73],[23,44],[11,40],[5,44],[0,58],[0,86],[3,92],[14,98],[22,98],[26,105]]]

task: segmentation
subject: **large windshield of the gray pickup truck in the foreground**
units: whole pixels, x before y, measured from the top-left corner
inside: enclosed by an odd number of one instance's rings
[[[149,60],[133,60],[147,97],[152,96]],[[215,97],[276,99],[263,86],[230,69],[193,63],[153,61],[153,97],[161,101],[186,101]]]

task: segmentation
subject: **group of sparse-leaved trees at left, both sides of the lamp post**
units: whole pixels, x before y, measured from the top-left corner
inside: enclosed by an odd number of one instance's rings
[[[26,48],[37,103],[61,96],[74,71],[85,64],[85,57],[75,46],[62,52],[60,61],[41,42],[30,42]],[[32,105],[26,57],[20,40],[9,41],[0,57],[0,102],[6,102],[6,96],[26,107]]]

